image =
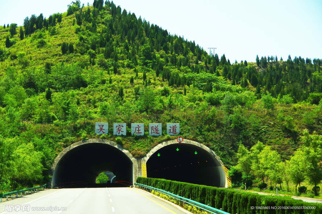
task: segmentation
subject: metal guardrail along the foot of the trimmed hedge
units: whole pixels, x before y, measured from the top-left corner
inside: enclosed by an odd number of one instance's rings
[[[175,198],[176,200],[180,200],[180,201],[183,201],[183,202],[185,202],[187,204],[191,204],[191,205],[193,205],[195,207],[198,207],[200,209],[206,210],[206,211],[208,211],[210,213],[213,213],[213,214],[230,214],[228,212],[224,212],[222,210],[219,210],[219,209],[210,207],[208,205],[199,203],[199,202],[194,201],[194,200],[186,199],[184,197],[175,195],[173,193],[170,193],[170,192],[167,192],[167,191],[164,191],[164,190],[160,190],[160,189],[157,189],[157,188],[154,188],[154,187],[150,187],[150,186],[147,186],[147,185],[144,185],[144,184],[139,184],[139,183],[134,183],[134,185],[141,186],[141,187],[144,187],[144,188],[147,188],[147,189],[150,189],[150,190],[154,190],[154,191],[160,192],[162,194],[165,194],[167,196],[170,196],[172,198]]]

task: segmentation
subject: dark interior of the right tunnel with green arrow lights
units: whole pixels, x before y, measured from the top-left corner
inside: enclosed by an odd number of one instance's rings
[[[167,145],[147,161],[148,178],[225,187],[223,176],[220,163],[207,151],[192,144]]]

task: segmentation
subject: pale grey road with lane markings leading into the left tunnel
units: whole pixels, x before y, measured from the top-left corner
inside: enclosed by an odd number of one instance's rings
[[[12,211],[5,211],[5,205],[13,205]],[[15,205],[30,205],[26,212],[15,211]],[[56,210],[32,210],[33,208],[52,207]],[[57,210],[66,207],[66,210]],[[35,192],[31,195],[18,197],[14,200],[0,203],[0,214],[4,213],[62,213],[62,214],[186,214],[182,210],[155,198],[136,188],[104,187],[104,188],[69,188],[49,189]]]

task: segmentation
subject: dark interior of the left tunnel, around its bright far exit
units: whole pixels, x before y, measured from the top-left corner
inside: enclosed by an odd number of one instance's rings
[[[132,185],[133,163],[126,154],[108,144],[79,145],[68,151],[57,163],[52,187],[94,185],[99,173],[107,171],[113,172],[116,182]]]

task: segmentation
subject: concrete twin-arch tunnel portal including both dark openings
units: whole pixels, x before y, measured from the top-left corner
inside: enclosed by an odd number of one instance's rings
[[[51,187],[94,184],[101,172],[112,172],[115,182],[133,185],[138,176],[163,178],[207,186],[227,187],[220,158],[203,144],[170,140],[158,144],[143,158],[134,158],[115,142],[89,139],[65,148],[52,165]]]

